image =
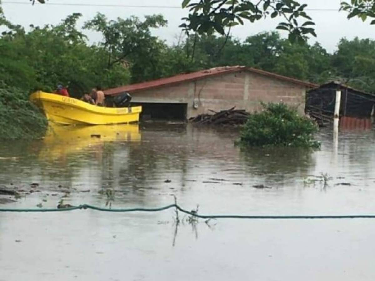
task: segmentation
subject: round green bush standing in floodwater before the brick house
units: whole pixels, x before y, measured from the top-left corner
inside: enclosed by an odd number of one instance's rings
[[[286,146],[318,149],[313,139],[318,127],[311,119],[299,116],[284,103],[262,104],[264,110],[253,113],[241,131],[240,143],[249,146]]]

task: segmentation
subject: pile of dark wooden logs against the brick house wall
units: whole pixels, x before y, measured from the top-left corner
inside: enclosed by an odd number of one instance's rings
[[[228,110],[222,110],[220,112],[214,112],[214,114],[199,114],[196,117],[190,118],[189,121],[199,125],[228,125],[237,126],[246,123],[249,117],[249,113],[245,110],[235,110],[236,107],[232,107]]]

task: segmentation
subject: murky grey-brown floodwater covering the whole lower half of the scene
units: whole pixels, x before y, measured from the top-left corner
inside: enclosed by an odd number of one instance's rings
[[[0,208],[61,199],[153,208],[175,195],[202,214],[375,214],[374,129],[341,130],[337,149],[322,129],[318,152],[244,150],[237,131],[190,125],[52,129],[41,141],[0,144],[0,186],[22,195]],[[375,279],[374,220],[191,223],[180,214],[176,227],[174,216],[0,213],[0,280]]]

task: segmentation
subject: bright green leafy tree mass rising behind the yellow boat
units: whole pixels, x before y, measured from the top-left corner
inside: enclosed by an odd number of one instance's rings
[[[76,97],[101,85],[114,87],[130,80],[121,65],[108,70],[107,51],[88,46],[86,36],[77,30],[80,14],[74,13],[56,26],[45,25],[25,32],[18,25],[0,36],[0,80],[24,91],[51,91],[59,82],[69,85]]]

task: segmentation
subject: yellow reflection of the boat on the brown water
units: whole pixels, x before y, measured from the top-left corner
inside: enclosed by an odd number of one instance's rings
[[[140,140],[138,124],[64,126],[51,122],[39,156],[44,159],[54,159],[79,154],[85,149],[101,146],[108,141],[139,142]]]

